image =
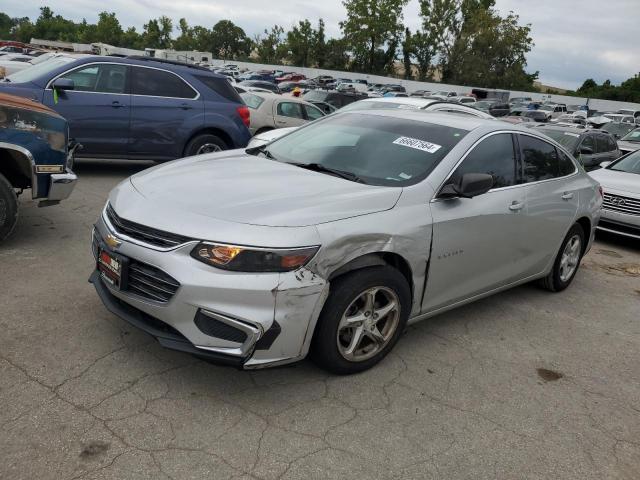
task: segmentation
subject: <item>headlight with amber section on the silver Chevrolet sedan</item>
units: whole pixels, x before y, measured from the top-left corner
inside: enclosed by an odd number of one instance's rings
[[[290,272],[306,265],[318,248],[258,248],[201,242],[191,256],[207,265],[235,272]]]

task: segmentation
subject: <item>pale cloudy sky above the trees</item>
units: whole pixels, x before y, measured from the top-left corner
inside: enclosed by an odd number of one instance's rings
[[[586,78],[619,83],[640,72],[640,0],[497,0],[498,9],[520,15],[530,23],[535,42],[528,55],[529,71],[540,71],[549,85],[577,88]],[[35,19],[43,3],[36,0],[0,0],[0,11],[12,17]],[[308,18],[323,18],[330,35],[339,35],[345,17],[341,0],[50,0],[54,12],[73,20],[97,20],[101,10],[115,11],[124,27],[141,30],[150,17],[167,15],[175,23],[213,26],[230,19],[248,35],[274,23],[287,28]],[[419,26],[418,0],[405,9],[405,24]]]

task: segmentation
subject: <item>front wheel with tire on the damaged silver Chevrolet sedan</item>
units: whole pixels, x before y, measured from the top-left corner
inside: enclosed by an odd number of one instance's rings
[[[367,370],[397,343],[410,310],[409,284],[393,267],[368,267],[338,277],[320,313],[311,357],[340,375]]]

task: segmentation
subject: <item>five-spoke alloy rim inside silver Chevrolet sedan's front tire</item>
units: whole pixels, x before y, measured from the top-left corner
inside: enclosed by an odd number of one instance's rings
[[[382,350],[395,334],[400,300],[387,287],[360,293],[347,307],[337,332],[338,351],[346,360],[362,362]]]

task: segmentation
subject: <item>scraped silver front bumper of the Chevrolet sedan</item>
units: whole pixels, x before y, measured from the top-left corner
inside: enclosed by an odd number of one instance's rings
[[[106,247],[108,235],[121,243]],[[108,310],[150,333],[161,345],[238,368],[262,368],[304,358],[329,285],[309,270],[238,273],[190,256],[196,242],[158,251],[127,241],[105,221],[93,231],[93,250],[107,248],[157,269],[179,283],[166,302],[119,290],[98,270],[89,281]]]

